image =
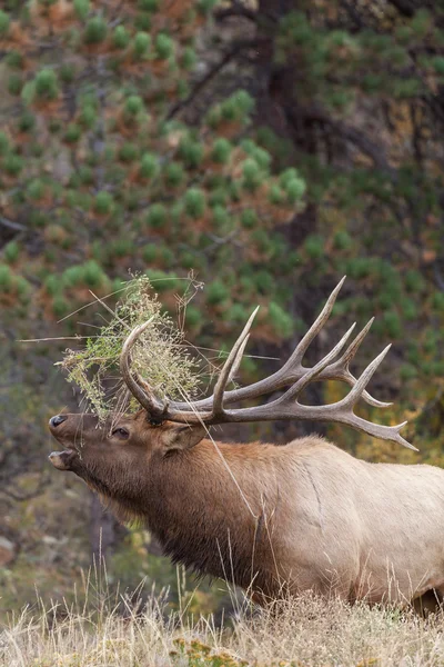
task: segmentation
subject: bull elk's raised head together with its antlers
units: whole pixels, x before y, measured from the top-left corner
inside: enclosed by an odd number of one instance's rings
[[[415,449],[401,435],[404,424],[382,426],[363,419],[353,409],[362,397],[376,407],[386,407],[366,390],[370,379],[387,354],[387,346],[356,379],[350,371],[354,358],[366,336],[372,320],[344,350],[354,325],[345,332],[335,347],[312,368],[302,365],[309,345],[327,320],[344,278],[331,293],[322,312],[310,330],[299,342],[284,366],[272,376],[234,390],[226,390],[242,360],[250,329],[256,313],[251,315],[242,334],[234,344],[209,398],[180,402],[159,399],[152,388],[131,369],[131,349],[149,322],[133,329],[127,338],[121,357],[120,370],[128,389],[137,398],[142,410],[135,415],[111,416],[99,424],[92,415],[58,415],[50,420],[50,430],[65,447],[50,456],[53,466],[60,470],[72,470],[99,490],[117,491],[122,479],[132,479],[135,492],[139,482],[135,478],[145,474],[145,466],[155,457],[167,457],[190,449],[204,438],[212,425],[228,422],[250,422],[278,419],[309,419],[313,421],[335,421],[351,426],[376,438],[392,440]],[[324,406],[305,406],[297,398],[310,382],[340,380],[352,389],[342,400]],[[261,406],[230,409],[228,406],[245,399],[285,389],[276,399]],[[144,470],[144,471],[143,471]]]

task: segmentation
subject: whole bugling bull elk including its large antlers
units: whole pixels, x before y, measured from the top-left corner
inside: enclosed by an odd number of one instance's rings
[[[344,280],[344,279],[343,279]],[[226,390],[255,312],[233,346],[210,398],[163,401],[133,369],[125,340],[121,375],[141,410],[99,424],[91,414],[58,415],[50,430],[63,451],[50,460],[81,477],[120,520],[142,520],[175,563],[228,579],[264,603],[312,589],[346,600],[410,603],[444,594],[444,471],[425,465],[369,464],[321,437],[284,446],[226,444],[208,428],[228,422],[309,419],[345,424],[412,447],[404,424],[382,426],[354,414],[360,398],[385,407],[366,386],[384,349],[356,379],[350,361],[372,320],[345,349],[352,329],[312,368],[309,345],[329,318],[343,280],[286,364],[250,386]],[[342,400],[306,406],[310,382],[351,386]],[[265,405],[236,408],[283,390]],[[427,596],[425,596],[427,597]]]

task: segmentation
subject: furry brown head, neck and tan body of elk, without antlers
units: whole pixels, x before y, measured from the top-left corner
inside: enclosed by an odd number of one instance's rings
[[[317,437],[283,447],[214,444],[201,427],[152,426],[145,412],[99,427],[68,415],[51,455],[139,519],[165,554],[255,599],[313,589],[408,603],[444,593],[444,471],[367,464]],[[73,450],[75,448],[75,450]]]

